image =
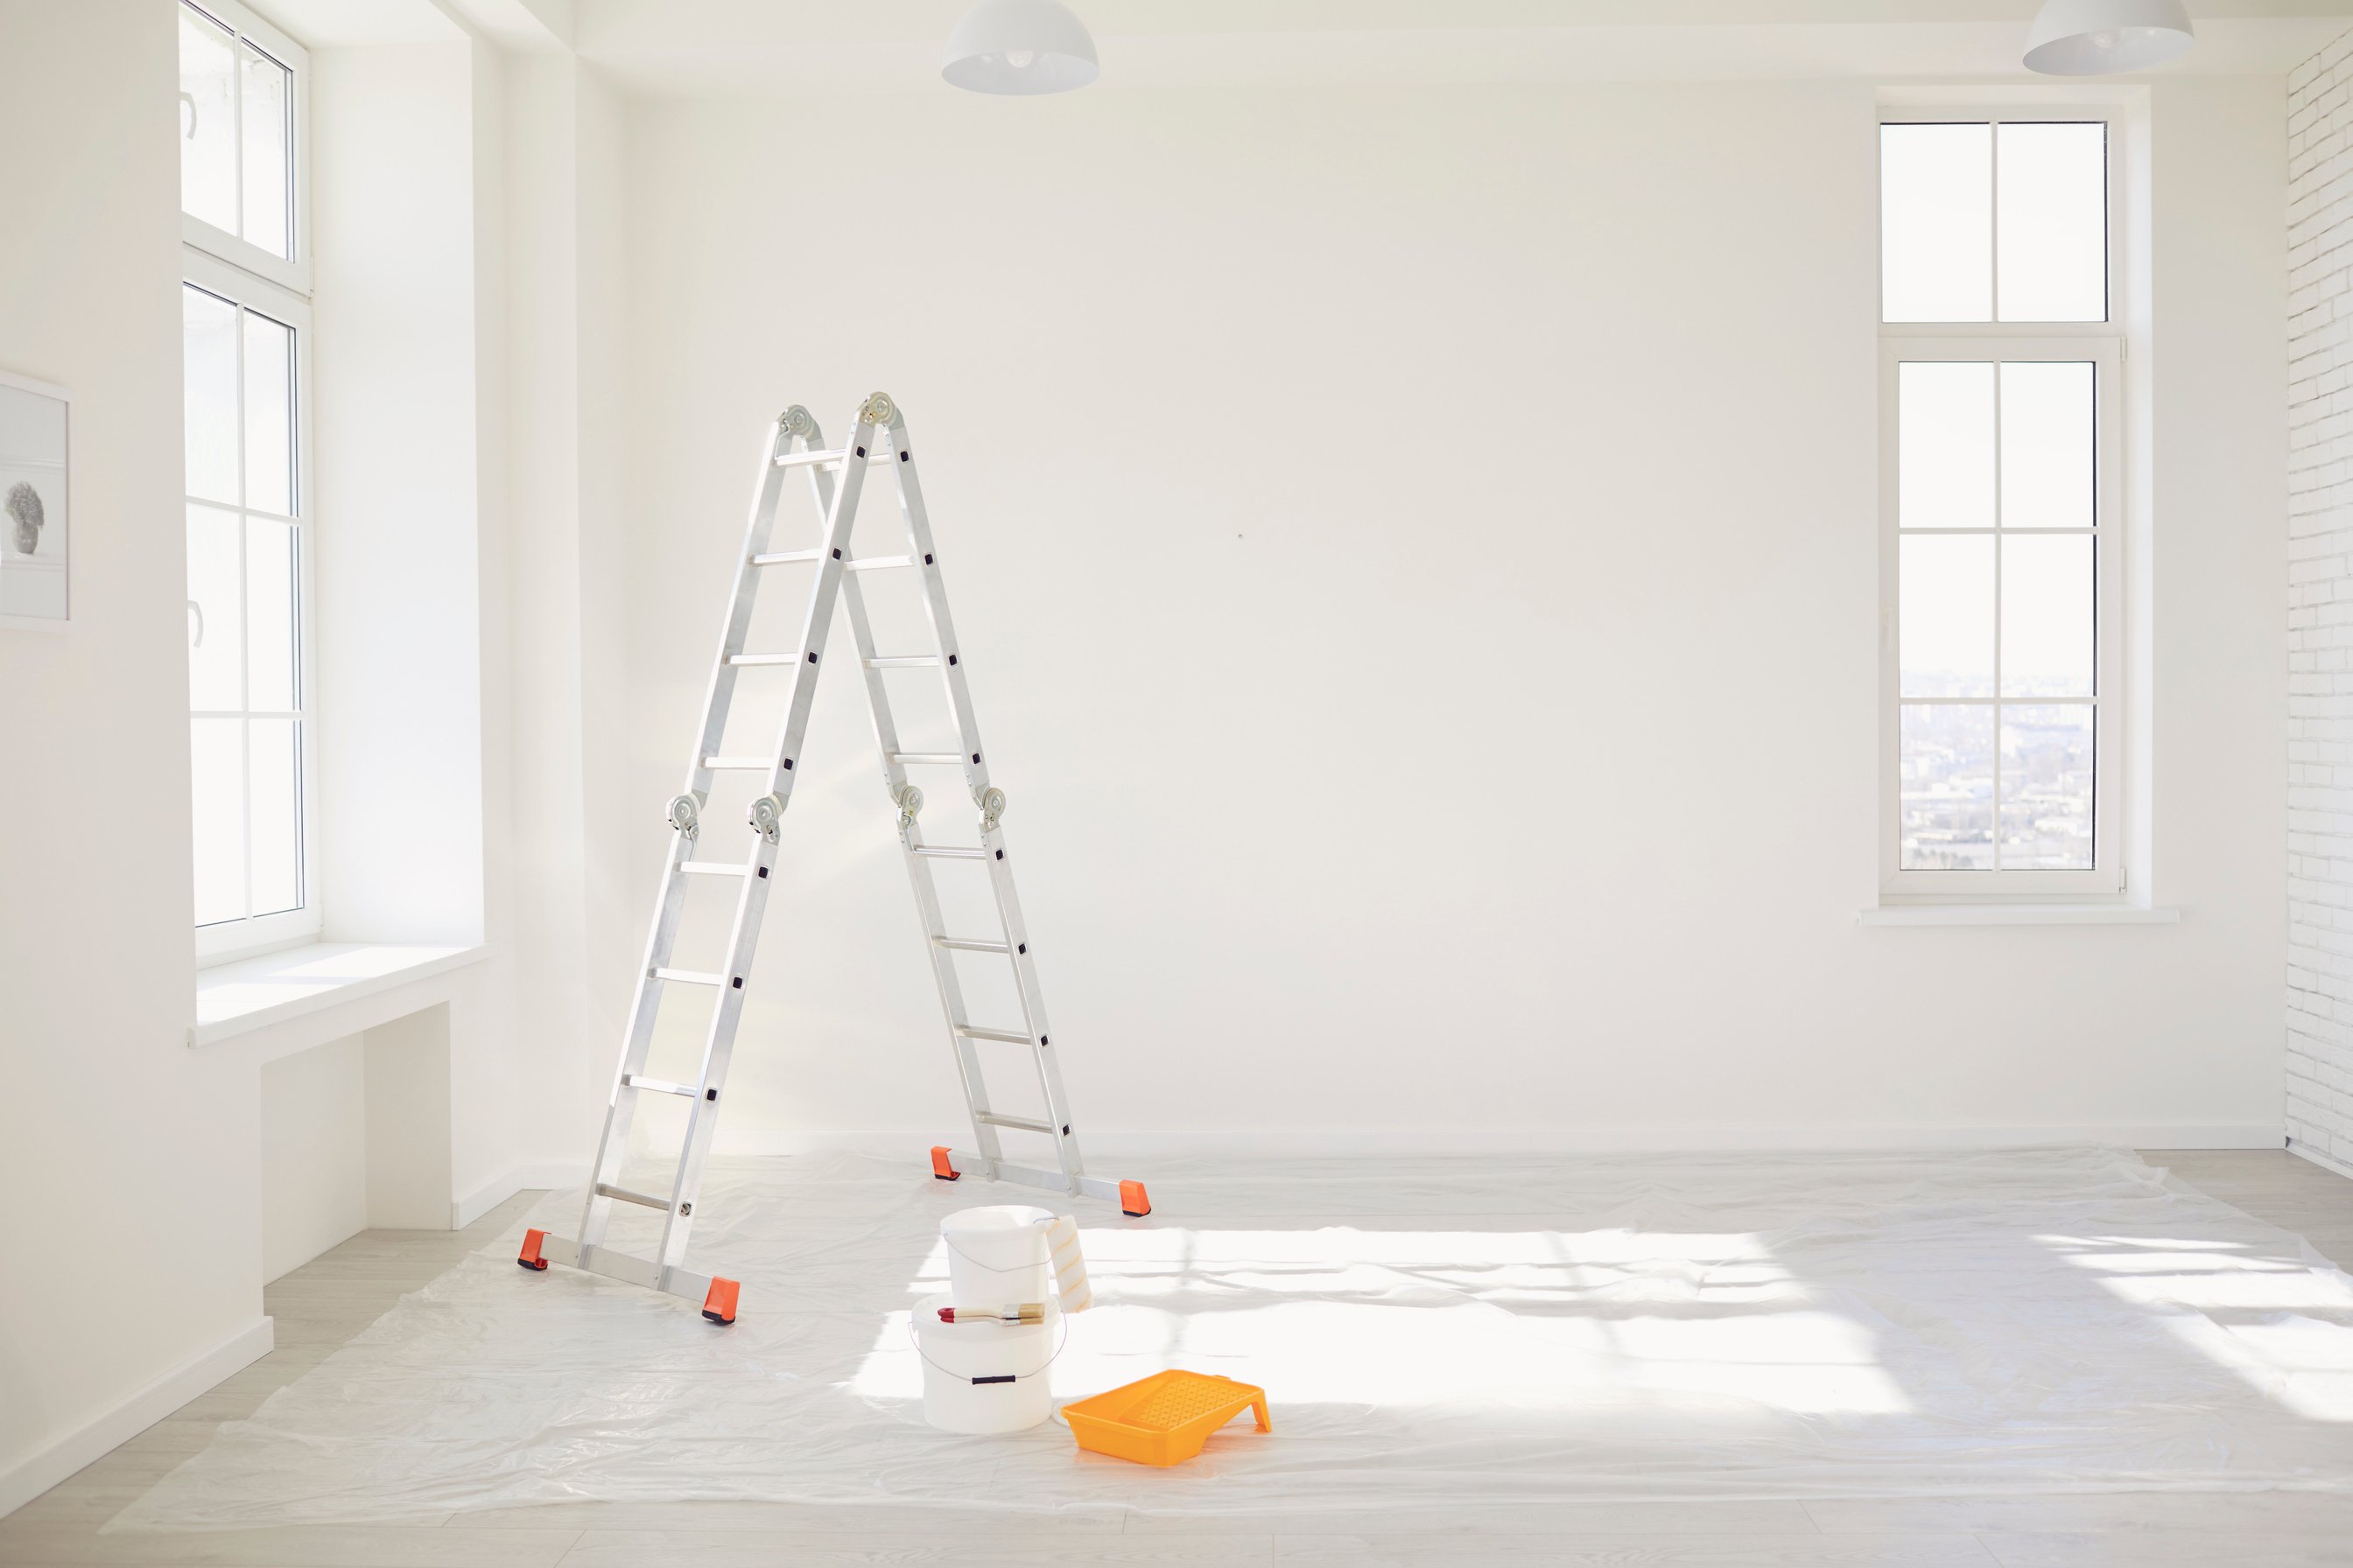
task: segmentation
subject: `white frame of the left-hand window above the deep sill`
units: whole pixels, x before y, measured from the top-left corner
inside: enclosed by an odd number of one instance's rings
[[[198,0],[191,5],[221,26],[235,31],[240,38],[249,40],[264,54],[287,66],[292,73],[294,92],[294,146],[289,148],[292,162],[292,261],[271,256],[259,244],[240,240],[212,223],[191,219],[181,214],[181,280],[207,294],[226,299],[245,310],[266,315],[275,322],[285,322],[294,329],[294,559],[296,559],[296,701],[299,708],[292,715],[301,722],[301,891],[304,903],[299,910],[285,910],[278,914],[242,914],[238,919],[214,922],[209,926],[195,926],[195,959],[198,964],[226,964],[231,959],[252,957],[259,952],[271,952],[275,947],[292,947],[299,943],[318,940],[325,929],[325,898],[320,877],[320,790],[318,790],[318,527],[313,515],[313,465],[311,465],[311,223],[308,212],[308,165],[311,165],[311,54],[296,45],[292,38],[254,16],[249,9],[235,0]],[[235,94],[242,113],[242,94]],[[240,127],[242,129],[242,127]],[[242,179],[242,139],[238,158],[238,176]],[[242,212],[242,197],[240,197]],[[245,334],[238,331],[238,378],[242,388],[242,355]],[[242,468],[242,395],[238,414],[238,447]],[[240,475],[242,477],[242,475]],[[186,491],[186,487],[184,487]],[[242,491],[242,484],[240,484]],[[198,501],[184,494],[181,517],[186,517],[186,505]],[[219,505],[216,501],[205,501],[205,505]],[[249,508],[238,508],[242,517]],[[268,515],[268,512],[266,512]],[[242,538],[242,529],[240,529]],[[242,545],[240,545],[242,548]],[[198,710],[191,708],[191,719]],[[252,790],[247,795],[247,809],[252,806]],[[247,858],[249,858],[247,846]]]

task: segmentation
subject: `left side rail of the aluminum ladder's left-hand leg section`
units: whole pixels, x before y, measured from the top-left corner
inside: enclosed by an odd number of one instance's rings
[[[659,1018],[661,997],[671,985],[668,980],[656,978],[656,971],[668,969],[671,952],[678,943],[678,919],[682,914],[687,889],[687,879],[680,867],[694,856],[694,846],[701,835],[701,806],[711,799],[708,757],[720,745],[727,729],[727,710],[734,703],[736,665],[729,663],[729,656],[741,651],[760,590],[760,569],[751,564],[751,557],[767,550],[769,534],[776,524],[776,508],[784,498],[786,470],[779,468],[776,458],[784,456],[784,449],[793,440],[805,440],[809,430],[814,430],[814,421],[807,409],[800,409],[798,404],[786,409],[786,414],[781,414],[769,428],[767,447],[760,458],[760,477],[753,484],[751,515],[744,524],[744,550],[736,555],[734,595],[729,597],[727,621],[720,628],[720,649],[711,663],[711,682],[704,691],[704,722],[696,731],[694,757],[687,764],[687,788],[673,797],[668,806],[673,830],[671,846],[661,867],[661,891],[654,898],[654,922],[645,938],[645,961],[638,966],[628,1034],[621,1046],[621,1060],[614,1067],[612,1091],[605,1100],[605,1131],[598,1135],[595,1161],[588,1166],[588,1194],[581,1201],[579,1232],[574,1232],[576,1267],[591,1267],[598,1260],[614,1204],[614,1199],[600,1192],[600,1187],[619,1185],[621,1164],[628,1157],[628,1133],[635,1124],[638,1110],[633,1079],[645,1072],[645,1060],[654,1046],[654,1023]],[[753,877],[746,872],[746,882],[751,879]],[[704,1103],[704,1084],[696,1084],[696,1105]]]

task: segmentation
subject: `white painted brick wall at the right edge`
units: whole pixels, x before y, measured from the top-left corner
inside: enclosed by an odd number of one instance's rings
[[[2287,78],[2287,1135],[2353,1164],[2353,33]]]

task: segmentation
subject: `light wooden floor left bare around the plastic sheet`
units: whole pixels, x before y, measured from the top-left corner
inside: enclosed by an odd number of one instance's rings
[[[2151,1154],[2214,1197],[2353,1260],[2353,1182],[2292,1154]],[[268,1288],[278,1349],[169,1420],[0,1521],[0,1563],[224,1563],[235,1568],[734,1568],[960,1563],[1753,1563],[1854,1568],[2075,1568],[2082,1563],[2348,1568],[2353,1500],[2278,1493],[1939,1497],[1922,1502],[1537,1505],[1433,1519],[1306,1514],[1280,1519],[1054,1523],[911,1509],[880,1516],[800,1505],[560,1505],[449,1514],[419,1526],[301,1526],[202,1535],[99,1535],[158,1476],[299,1378],[529,1199],[464,1232],[365,1232]],[[2353,1443],[2353,1432],[2346,1434]]]

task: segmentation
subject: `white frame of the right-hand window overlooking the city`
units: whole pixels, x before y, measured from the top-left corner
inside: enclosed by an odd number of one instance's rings
[[[2127,597],[2125,597],[2125,322],[2132,320],[2125,299],[2129,268],[2125,266],[2125,230],[2120,223],[2118,193],[2125,188],[2125,115],[2115,106],[2064,103],[2064,101],[2009,101],[2009,103],[1882,103],[1880,125],[2038,125],[2038,122],[2101,122],[2106,125],[2108,150],[2108,320],[2104,322],[1889,322],[1880,301],[1880,903],[1882,905],[2009,905],[2009,903],[2115,903],[2125,898],[2125,799],[2129,738],[2125,719],[2127,698]],[[1873,132],[1878,139],[1878,132]],[[1998,132],[1995,132],[1998,136]],[[1873,165],[1878,143],[1873,146]],[[2000,172],[1988,193],[1993,205],[1991,244],[1993,313],[2000,315]],[[1885,228],[1880,228],[1885,235]],[[1885,289],[1885,259],[1880,263]],[[1904,867],[1904,715],[1911,705],[1901,693],[1901,604],[1899,604],[1899,517],[1897,517],[1897,376],[1899,367],[1920,360],[1965,362],[2024,362],[2061,360],[2092,362],[2097,378],[2097,437],[2094,437],[2094,517],[2092,517],[2092,569],[2097,583],[2094,616],[2094,799],[2092,799],[2092,867],[2089,870],[1906,870]],[[2000,376],[1995,376],[2000,383]],[[2000,393],[1995,393],[1998,397]],[[1998,449],[1995,449],[1998,451]],[[2000,456],[1995,456],[1995,463]],[[1937,531],[1984,531],[1993,529],[1937,529]],[[2019,534],[2028,534],[2021,529]],[[2000,545],[1995,545],[2000,550]],[[1995,557],[1998,559],[1998,557]],[[1995,649],[2000,646],[2000,571],[1995,571]],[[1977,703],[1977,698],[1920,698],[1948,703]],[[2033,705],[2033,698],[2014,703],[2000,698],[2000,686],[1984,705]],[[1995,731],[1995,844],[2000,842],[2000,731]]]

